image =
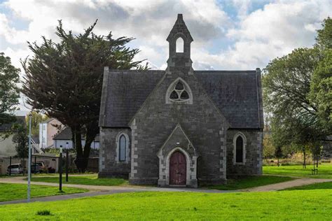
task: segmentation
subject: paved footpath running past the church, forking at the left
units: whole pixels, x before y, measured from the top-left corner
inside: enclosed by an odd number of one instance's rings
[[[13,177],[13,178],[0,178],[0,183],[20,183],[27,184],[27,180],[23,180],[24,177]],[[332,182],[332,179],[313,179],[313,178],[298,178],[296,180],[286,181],[283,183],[275,183],[271,185],[265,185],[261,187],[254,187],[243,190],[207,190],[207,189],[195,189],[195,188],[186,188],[186,187],[141,187],[141,186],[101,186],[101,185],[77,185],[77,184],[63,184],[63,187],[77,187],[90,190],[90,192],[77,193],[77,194],[64,194],[57,195],[52,197],[39,197],[31,199],[34,201],[57,201],[64,199],[76,199],[81,197],[94,197],[99,195],[106,194],[116,194],[123,192],[205,192],[205,193],[228,193],[228,192],[269,192],[284,190],[289,187],[296,187],[301,185],[309,185],[312,183],[324,183]],[[43,183],[43,182],[32,182],[33,185],[48,185],[57,187],[57,183]],[[27,202],[26,199],[20,199],[15,201],[3,201],[0,202],[0,205],[4,204],[20,204]]]

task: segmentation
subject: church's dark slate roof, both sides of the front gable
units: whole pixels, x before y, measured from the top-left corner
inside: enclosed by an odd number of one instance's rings
[[[100,127],[129,127],[128,123],[165,71],[104,72]],[[194,71],[230,128],[263,128],[261,75],[256,71]],[[259,109],[259,110],[258,110]]]

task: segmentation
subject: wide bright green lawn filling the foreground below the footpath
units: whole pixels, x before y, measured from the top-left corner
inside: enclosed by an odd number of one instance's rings
[[[331,220],[332,190],[137,192],[0,206],[1,220]],[[50,215],[36,215],[37,213]]]

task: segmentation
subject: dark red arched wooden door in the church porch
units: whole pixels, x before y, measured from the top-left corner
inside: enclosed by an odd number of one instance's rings
[[[186,185],[186,157],[180,151],[173,152],[170,159],[170,185]]]

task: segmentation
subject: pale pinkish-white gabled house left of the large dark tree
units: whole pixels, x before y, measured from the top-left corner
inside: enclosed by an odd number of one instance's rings
[[[39,148],[52,148],[53,137],[58,134],[64,125],[55,118],[50,118],[39,124]]]

